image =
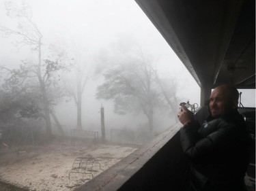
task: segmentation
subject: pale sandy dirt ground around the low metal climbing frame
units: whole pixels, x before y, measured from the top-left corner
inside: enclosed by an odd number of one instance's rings
[[[91,174],[70,173],[76,158],[96,158],[100,165],[95,163],[91,171],[96,177],[135,150],[134,146],[68,140],[11,150],[0,147],[0,181],[26,190],[70,191],[92,178]]]

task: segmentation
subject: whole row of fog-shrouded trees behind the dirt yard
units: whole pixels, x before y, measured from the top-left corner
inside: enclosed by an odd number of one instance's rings
[[[102,102],[103,107],[113,105],[105,114],[106,130],[117,136],[128,132],[132,140],[150,139],[175,123],[180,103],[175,75],[161,75],[158,58],[132,35],[119,33],[108,48],[89,52],[88,47],[72,39],[45,41],[49,38],[40,22],[33,19],[35,13],[29,3],[5,1],[4,5],[6,16],[14,24],[9,27],[0,23],[1,38],[10,39],[10,46],[19,51],[29,50],[16,63],[0,63],[0,133],[4,143],[11,139],[24,141],[31,129],[34,136],[45,135],[48,139],[55,134],[53,128],[62,136],[69,136],[72,128],[100,131],[98,114],[94,114],[98,122],[89,123],[84,113],[91,107],[99,108]],[[93,98],[86,96],[89,92]],[[72,107],[61,107],[63,104]],[[72,126],[61,117],[63,109],[75,116]],[[110,115],[114,117],[108,120]],[[119,116],[130,124],[118,121]],[[111,131],[117,126],[121,134]]]

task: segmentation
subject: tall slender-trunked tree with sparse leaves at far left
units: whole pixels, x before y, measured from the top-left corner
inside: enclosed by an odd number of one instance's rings
[[[23,82],[29,77],[36,77],[42,94],[42,104],[44,109],[44,119],[46,122],[46,134],[51,137],[51,107],[48,98],[47,87],[53,82],[53,73],[63,69],[63,66],[59,63],[59,58],[55,61],[42,60],[42,38],[43,35],[40,29],[33,21],[31,8],[25,1],[21,6],[12,3],[11,1],[5,2],[5,9],[7,16],[10,18],[16,18],[18,24],[16,29],[9,29],[7,27],[0,27],[0,32],[3,37],[10,37],[16,35],[19,37],[19,41],[16,41],[16,46],[22,48],[23,46],[29,46],[31,50],[36,52],[37,60],[29,60],[23,62],[20,65],[20,69],[12,71],[12,77],[19,76],[23,78]],[[1,69],[8,69],[7,67],[1,66]],[[22,82],[22,81],[20,81]]]

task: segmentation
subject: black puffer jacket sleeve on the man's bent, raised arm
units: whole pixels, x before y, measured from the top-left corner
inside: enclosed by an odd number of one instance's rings
[[[200,137],[198,122],[190,122],[180,129],[183,152],[194,162],[214,150],[231,145],[232,125],[216,122],[216,131],[205,137]]]

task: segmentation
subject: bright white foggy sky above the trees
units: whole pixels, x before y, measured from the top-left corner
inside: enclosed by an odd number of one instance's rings
[[[21,1],[14,2],[18,4]],[[165,71],[166,75],[175,73],[185,76],[184,80],[179,77],[179,82],[182,84],[181,92],[197,89],[196,94],[198,94],[199,87],[193,77],[134,1],[29,0],[26,2],[33,10],[33,20],[42,31],[46,44],[68,41],[70,44],[79,44],[87,52],[94,52],[100,48],[107,48],[119,33],[126,33],[134,36],[144,49],[158,58],[158,67]],[[13,29],[16,24],[15,19],[5,16],[3,0],[0,0],[0,24]],[[16,48],[11,46],[11,41],[14,39],[0,38],[1,44],[5,47],[1,50],[0,61],[8,58],[8,63],[12,63],[10,59],[16,59],[17,63],[24,55],[21,53],[25,52],[26,48],[19,50],[21,55],[18,57]],[[11,56],[10,53],[16,56]],[[184,99],[195,99],[199,102],[196,97]]]

